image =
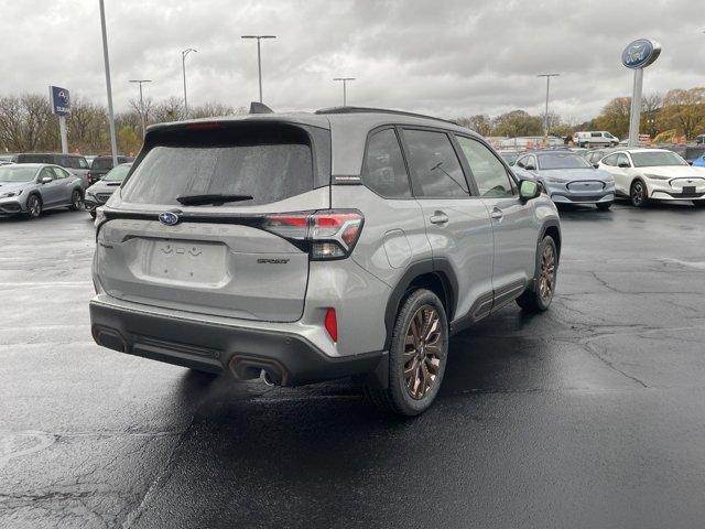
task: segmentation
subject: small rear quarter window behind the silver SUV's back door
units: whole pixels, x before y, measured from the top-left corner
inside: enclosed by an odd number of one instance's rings
[[[376,132],[367,144],[362,183],[384,198],[410,198],[409,175],[393,129]]]

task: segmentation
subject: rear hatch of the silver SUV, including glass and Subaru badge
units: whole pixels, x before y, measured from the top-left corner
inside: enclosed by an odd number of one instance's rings
[[[98,233],[102,288],[162,307],[299,320],[310,256],[286,235],[329,207],[329,143],[328,130],[271,119],[150,131]],[[193,204],[204,195],[216,197]]]

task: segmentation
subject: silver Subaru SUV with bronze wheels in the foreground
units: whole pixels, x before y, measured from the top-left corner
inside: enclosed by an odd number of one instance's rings
[[[553,203],[480,137],[350,107],[154,126],[96,225],[98,344],[283,386],[355,375],[406,415],[451,335],[549,307],[561,250]]]

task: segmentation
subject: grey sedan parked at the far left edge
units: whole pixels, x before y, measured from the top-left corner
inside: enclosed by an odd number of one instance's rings
[[[39,217],[44,209],[82,209],[80,177],[58,165],[22,163],[0,166],[0,216]]]

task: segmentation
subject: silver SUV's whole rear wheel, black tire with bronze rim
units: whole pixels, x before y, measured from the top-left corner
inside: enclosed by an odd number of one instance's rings
[[[426,328],[434,321],[437,325]],[[423,339],[416,341],[417,336]],[[383,412],[417,415],[436,398],[447,356],[448,322],[443,303],[430,290],[414,290],[402,301],[397,314],[389,350],[388,388],[366,384],[365,396]]]

